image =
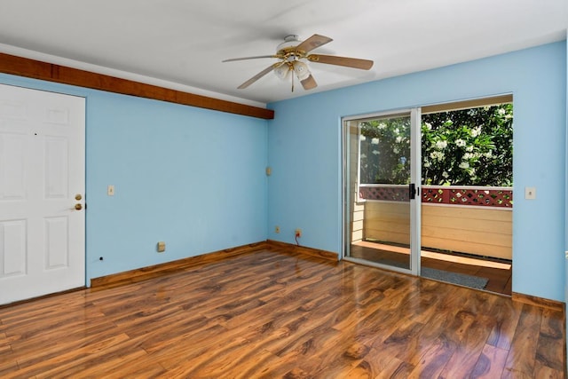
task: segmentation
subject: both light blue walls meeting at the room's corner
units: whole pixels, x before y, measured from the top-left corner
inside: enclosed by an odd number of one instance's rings
[[[536,200],[515,200],[513,291],[564,301],[566,67],[566,42],[550,43],[281,101],[270,122],[12,75],[0,83],[87,98],[87,284],[267,238],[294,242],[297,227],[305,246],[340,253],[342,116],[512,92],[515,191],[537,187]]]

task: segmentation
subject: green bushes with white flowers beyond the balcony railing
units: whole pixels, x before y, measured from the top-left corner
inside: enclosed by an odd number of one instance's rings
[[[361,123],[361,183],[409,183],[410,119]],[[422,183],[513,185],[513,106],[422,114]]]

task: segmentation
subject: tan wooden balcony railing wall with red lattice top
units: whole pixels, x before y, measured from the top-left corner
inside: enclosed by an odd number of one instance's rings
[[[359,186],[352,238],[409,244],[408,186]],[[511,187],[422,186],[422,247],[512,259]]]

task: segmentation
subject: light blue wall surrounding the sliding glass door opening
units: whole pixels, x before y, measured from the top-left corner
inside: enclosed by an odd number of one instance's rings
[[[300,227],[305,246],[341,253],[342,116],[502,93],[515,106],[513,291],[564,301],[564,41],[273,103],[268,238],[292,243]]]

